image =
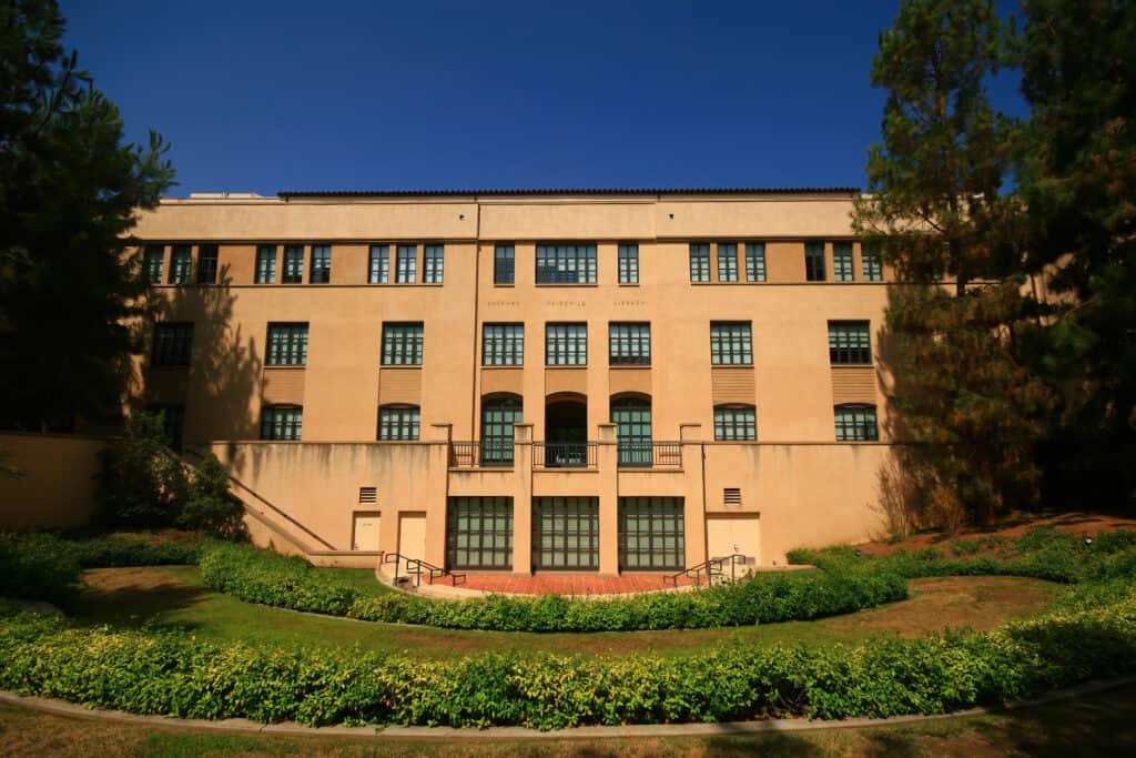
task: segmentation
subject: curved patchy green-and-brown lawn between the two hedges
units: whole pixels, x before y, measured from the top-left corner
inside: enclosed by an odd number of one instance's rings
[[[376,592],[368,569],[328,569]],[[328,618],[245,603],[212,592],[195,567],[165,566],[93,569],[75,609],[81,622],[181,627],[201,636],[250,642],[303,643],[336,648],[358,644],[369,650],[426,658],[482,651],[551,651],[623,655],[653,651],[674,655],[730,642],[851,642],[875,634],[918,636],[947,626],[986,630],[1042,610],[1061,588],[1018,577],[947,577],[916,580],[903,602],[817,622],[765,626],[662,632],[532,634],[466,632]]]

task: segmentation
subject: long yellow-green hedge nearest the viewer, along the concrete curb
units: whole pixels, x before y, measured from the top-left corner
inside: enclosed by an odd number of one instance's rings
[[[721,647],[679,658],[207,642],[184,632],[0,624],[0,689],[137,714],[304,724],[523,725],[937,714],[1136,670],[1136,598],[986,633],[857,647]]]

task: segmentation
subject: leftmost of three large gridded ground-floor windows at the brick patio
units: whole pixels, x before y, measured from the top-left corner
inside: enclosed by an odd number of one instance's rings
[[[452,497],[445,510],[446,568],[512,568],[512,498]]]

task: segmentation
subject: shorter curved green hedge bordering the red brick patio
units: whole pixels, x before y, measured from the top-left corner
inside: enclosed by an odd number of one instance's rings
[[[889,572],[766,573],[691,592],[580,600],[490,595],[461,601],[367,593],[334,574],[247,545],[218,544],[201,559],[210,588],[248,602],[373,622],[502,632],[601,632],[742,626],[847,614],[907,598]]]

